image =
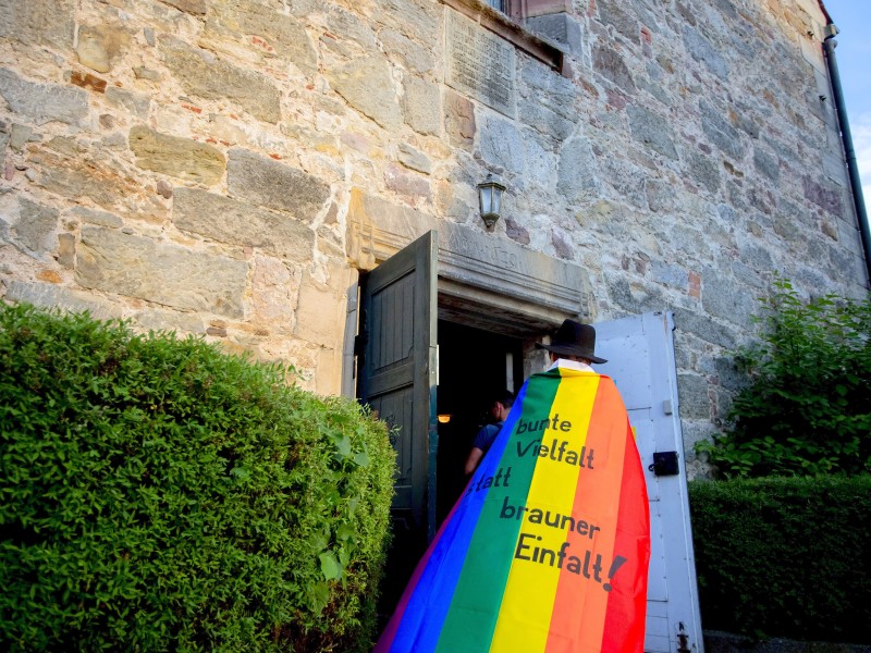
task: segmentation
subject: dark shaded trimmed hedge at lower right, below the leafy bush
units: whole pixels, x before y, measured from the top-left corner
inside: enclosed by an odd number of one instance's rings
[[[871,644],[871,476],[694,481],[702,626]]]

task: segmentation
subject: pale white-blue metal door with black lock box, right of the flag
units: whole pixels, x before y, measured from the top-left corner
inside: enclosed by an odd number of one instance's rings
[[[596,324],[596,354],[608,359],[596,370],[619,390],[647,479],[651,555],[645,651],[703,653],[673,330],[671,312]],[[657,452],[677,453],[677,473],[650,469]]]

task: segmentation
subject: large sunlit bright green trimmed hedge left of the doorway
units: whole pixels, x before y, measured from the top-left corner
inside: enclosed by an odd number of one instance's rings
[[[0,649],[366,650],[394,454],[201,340],[0,307]]]

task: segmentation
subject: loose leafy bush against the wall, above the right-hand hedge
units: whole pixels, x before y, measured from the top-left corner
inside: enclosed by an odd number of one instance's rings
[[[726,477],[871,471],[871,299],[775,288],[761,342],[737,357],[750,384],[734,428],[698,449]]]

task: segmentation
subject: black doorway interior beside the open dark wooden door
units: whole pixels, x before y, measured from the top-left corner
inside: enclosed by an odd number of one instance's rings
[[[522,341],[439,320],[438,525],[466,485],[463,466],[478,429],[491,420],[491,402],[522,384]]]

